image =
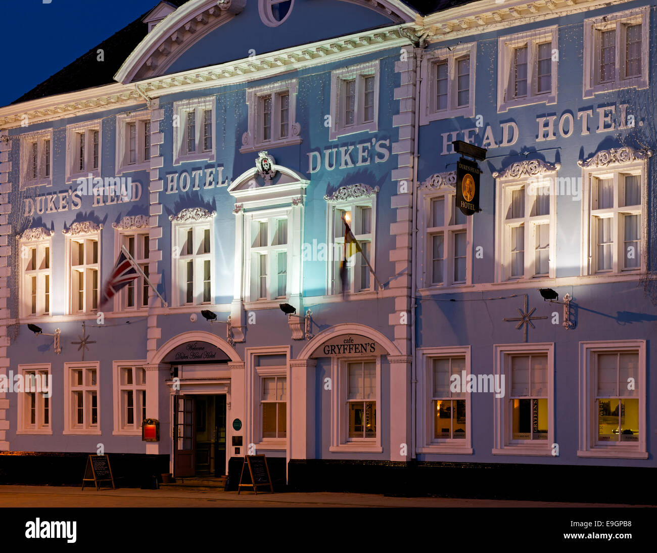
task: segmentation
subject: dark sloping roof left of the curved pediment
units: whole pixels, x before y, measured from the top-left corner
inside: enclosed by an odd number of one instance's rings
[[[181,7],[188,0],[166,1],[175,7]],[[159,2],[156,1],[153,8],[158,4]],[[68,64],[64,69],[48,77],[43,83],[36,85],[31,91],[11,103],[28,102],[29,100],[109,85],[116,82],[114,81],[114,75],[116,75],[116,72],[122,66],[127,56],[132,53],[148,34],[148,25],[142,22],[142,19],[151,11],[152,8],[141,14],[122,30],[114,33],[86,54]],[[104,53],[103,62],[97,61],[98,49],[102,49]]]

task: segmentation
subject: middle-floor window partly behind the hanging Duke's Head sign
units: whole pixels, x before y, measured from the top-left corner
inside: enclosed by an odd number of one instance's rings
[[[471,282],[472,225],[456,207],[455,192],[424,196],[425,286]]]

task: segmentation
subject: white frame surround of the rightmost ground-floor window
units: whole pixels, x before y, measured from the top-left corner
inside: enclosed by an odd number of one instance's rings
[[[615,353],[632,351],[639,353],[637,382],[639,399],[639,441],[636,445],[618,442],[617,444],[597,445],[595,443],[595,378],[591,375],[591,357],[602,351]],[[579,342],[579,447],[578,457],[604,458],[648,458],[647,435],[649,422],[646,417],[646,340],[603,340],[600,342]]]

